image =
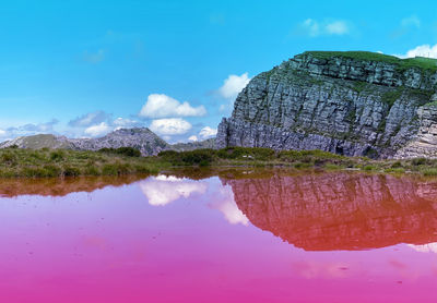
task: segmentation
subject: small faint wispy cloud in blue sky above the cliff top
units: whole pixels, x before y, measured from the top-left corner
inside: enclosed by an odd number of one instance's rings
[[[307,19],[299,25],[304,34],[310,37],[317,37],[321,35],[336,35],[342,36],[351,32],[350,25],[342,20],[331,22],[319,22],[314,19]]]

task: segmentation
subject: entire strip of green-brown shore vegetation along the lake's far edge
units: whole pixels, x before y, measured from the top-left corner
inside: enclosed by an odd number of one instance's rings
[[[275,152],[260,147],[227,147],[218,150],[165,150],[151,157],[142,157],[132,147],[103,148],[97,152],[23,149],[15,146],[0,149],[0,178],[155,174],[177,167],[259,167],[437,175],[437,159],[374,160],[317,149]]]

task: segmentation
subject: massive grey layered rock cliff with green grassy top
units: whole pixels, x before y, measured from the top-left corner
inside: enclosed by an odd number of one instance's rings
[[[429,107],[423,107],[437,87],[433,64],[437,60],[366,52],[296,56],[250,81],[232,117],[218,125],[216,146],[322,149],[374,158],[413,155],[398,150],[437,123]],[[434,141],[427,142],[437,150]]]

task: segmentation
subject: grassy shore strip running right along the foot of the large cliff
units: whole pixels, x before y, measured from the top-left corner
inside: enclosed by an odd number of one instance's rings
[[[308,170],[357,170],[390,174],[415,173],[437,175],[437,159],[374,160],[367,157],[346,157],[322,150],[275,152],[259,147],[228,147],[192,152],[162,152],[158,162],[172,167],[286,167]]]

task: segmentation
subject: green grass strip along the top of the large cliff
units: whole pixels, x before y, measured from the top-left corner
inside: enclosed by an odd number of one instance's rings
[[[370,52],[370,51],[306,51],[299,56],[312,56],[317,59],[331,59],[335,57],[349,58],[362,61],[385,62],[397,65],[400,71],[415,68],[423,71],[437,72],[437,59],[416,57],[400,59],[394,56]]]

